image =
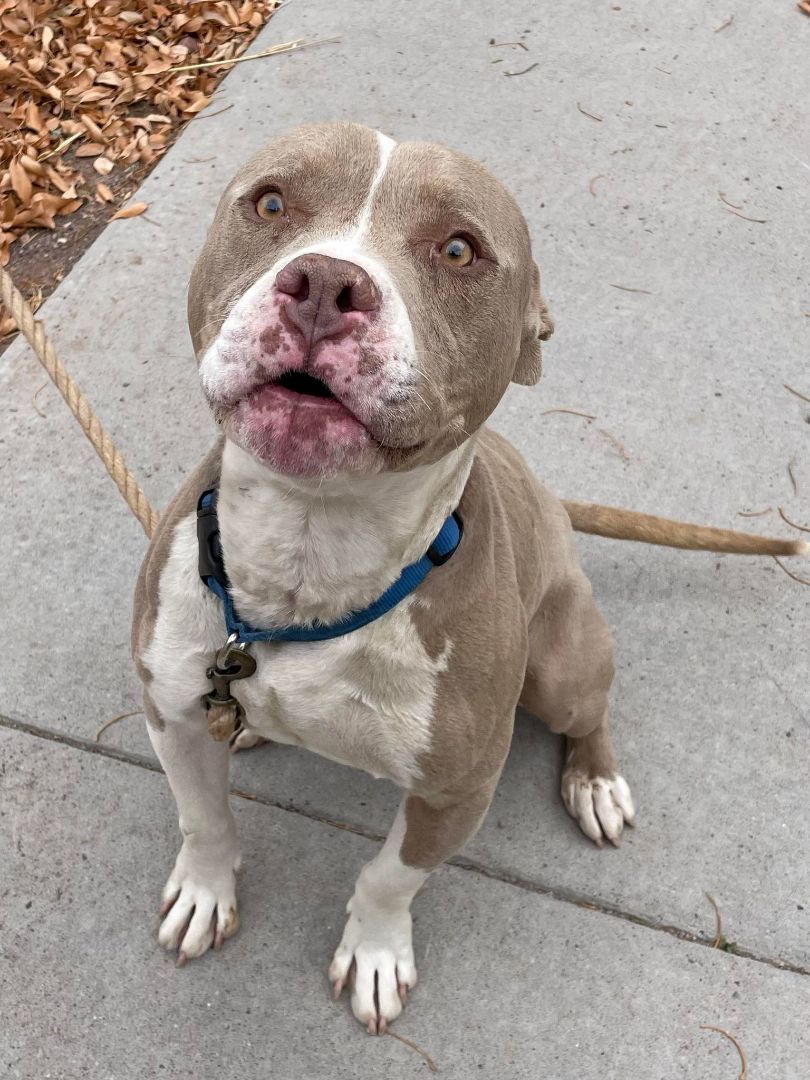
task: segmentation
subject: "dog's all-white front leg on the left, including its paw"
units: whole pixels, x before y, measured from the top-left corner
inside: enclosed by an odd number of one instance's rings
[[[149,738],[179,812],[183,847],[163,889],[161,945],[178,963],[219,948],[239,929],[239,848],[228,805],[228,743],[208,734],[205,716],[149,725]]]

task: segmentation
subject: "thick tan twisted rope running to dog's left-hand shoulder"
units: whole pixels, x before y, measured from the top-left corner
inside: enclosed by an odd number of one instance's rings
[[[148,537],[154,531],[159,514],[149,503],[137,481],[126,468],[121,451],[112,442],[110,435],[102,427],[102,422],[90,407],[90,403],[77,387],[56,350],[49,340],[42,323],[33,318],[29,305],[11,279],[6,270],[0,267],[0,298],[19,330],[28,339],[28,343],[56,384],[56,389],[67,402],[67,406],[81,424],[81,429],[93,444],[93,449],[104,462],[107,472],[116,482],[116,487],[124,498],[124,502],[140,522]]]

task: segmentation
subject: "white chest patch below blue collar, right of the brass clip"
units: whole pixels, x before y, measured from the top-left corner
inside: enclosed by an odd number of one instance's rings
[[[419,775],[446,656],[430,659],[407,603],[346,637],[252,651],[255,674],[232,687],[249,728],[400,784]]]

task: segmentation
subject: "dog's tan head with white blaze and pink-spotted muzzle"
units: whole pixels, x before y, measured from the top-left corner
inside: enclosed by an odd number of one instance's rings
[[[232,180],[189,324],[225,433],[299,476],[459,446],[552,323],[523,216],[481,165],[355,124],[296,129]]]

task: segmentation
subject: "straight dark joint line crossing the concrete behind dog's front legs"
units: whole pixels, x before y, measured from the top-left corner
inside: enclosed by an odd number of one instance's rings
[[[163,773],[163,770],[160,768],[158,762],[151,758],[144,757],[140,754],[133,754],[129,751],[118,750],[114,746],[106,746],[100,743],[95,743],[90,739],[64,734],[60,731],[52,731],[50,728],[41,728],[36,724],[28,724],[24,720],[14,720],[9,716],[2,715],[0,715],[0,727],[8,728],[12,731],[19,731],[23,734],[32,735],[37,739],[43,739],[48,742],[59,743],[63,746],[69,746],[71,750],[82,751],[85,754],[97,754],[99,757],[109,758],[113,761],[121,761],[124,765],[134,765],[138,768],[147,769],[149,772]],[[318,813],[314,810],[305,810],[292,802],[283,802],[278,799],[268,798],[264,795],[254,795],[252,792],[245,792],[239,787],[231,787],[230,794],[249,802],[258,802],[260,806],[268,806],[275,810],[283,810],[287,813],[298,814],[300,818],[307,818],[309,821],[319,822],[319,824],[327,825],[329,828],[337,828],[345,833],[352,833],[354,836],[361,836],[366,840],[374,840],[377,843],[381,843],[384,840],[384,836],[379,833],[373,833],[370,829],[363,828],[360,825],[353,825],[350,822],[337,821],[333,818],[326,816],[325,814]],[[523,889],[525,892],[534,892],[540,896],[549,896],[563,904],[573,904],[576,907],[580,907],[588,912],[607,915],[611,918],[620,919],[623,922],[631,922],[634,926],[644,927],[647,930],[656,930],[659,933],[669,934],[671,937],[688,942],[691,945],[702,945],[704,948],[710,948],[717,953],[741,957],[744,960],[753,960],[756,963],[762,963],[766,967],[775,968],[779,971],[789,971],[795,975],[810,975],[810,968],[793,963],[789,960],[779,960],[774,957],[762,956],[761,954],[754,953],[752,949],[747,949],[741,945],[734,945],[733,950],[717,949],[714,947],[713,937],[703,937],[700,934],[693,934],[691,931],[684,930],[681,927],[662,922],[650,916],[625,912],[620,907],[582,895],[572,889],[561,889],[555,886],[543,885],[538,881],[529,881],[526,878],[509,873],[509,870],[485,866],[483,863],[480,863],[474,859],[467,859],[462,855],[454,855],[453,859],[447,861],[446,865],[470,874],[477,874],[491,881],[500,881],[503,885],[510,885],[515,889]]]

